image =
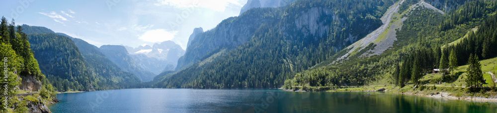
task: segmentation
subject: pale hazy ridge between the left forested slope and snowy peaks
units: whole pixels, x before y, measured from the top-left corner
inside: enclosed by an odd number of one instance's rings
[[[102,53],[113,63],[115,63],[123,71],[133,73],[143,82],[151,81],[154,74],[143,70],[136,65],[136,62],[129,56],[128,51],[124,46],[120,45],[102,45],[100,46]]]

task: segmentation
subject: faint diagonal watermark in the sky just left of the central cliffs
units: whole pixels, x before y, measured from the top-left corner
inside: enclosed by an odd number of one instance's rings
[[[180,14],[176,14],[175,21],[169,21],[168,24],[171,29],[177,29],[179,25],[183,24],[186,18],[190,17],[190,15],[198,8],[199,2],[198,0],[193,0],[187,8],[183,9]]]

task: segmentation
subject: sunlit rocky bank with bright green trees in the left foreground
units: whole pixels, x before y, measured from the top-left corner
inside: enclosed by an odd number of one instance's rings
[[[1,113],[50,112],[47,104],[57,102],[56,92],[47,83],[30,49],[22,26],[2,16],[0,23],[0,57],[2,62]],[[33,92],[19,96],[19,92]]]

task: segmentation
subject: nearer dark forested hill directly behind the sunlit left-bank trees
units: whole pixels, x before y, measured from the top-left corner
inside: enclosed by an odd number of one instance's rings
[[[41,64],[41,71],[49,80],[56,76],[61,79],[62,84],[64,80],[79,81],[82,89],[77,90],[90,90],[90,81],[94,78],[85,67],[83,56],[71,39],[53,33],[29,34],[29,37],[35,58]],[[67,91],[65,85],[54,82],[51,81],[59,91]]]

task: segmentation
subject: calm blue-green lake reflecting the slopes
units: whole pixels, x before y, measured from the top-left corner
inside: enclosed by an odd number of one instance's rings
[[[496,113],[496,102],[384,92],[124,89],[58,94],[53,113]]]

